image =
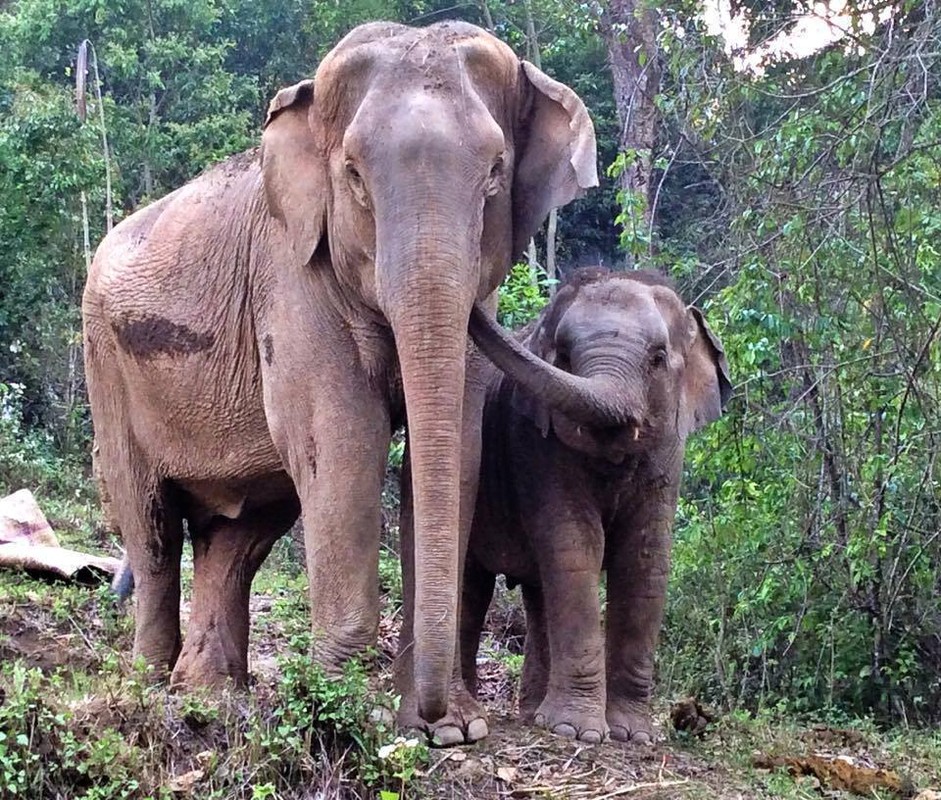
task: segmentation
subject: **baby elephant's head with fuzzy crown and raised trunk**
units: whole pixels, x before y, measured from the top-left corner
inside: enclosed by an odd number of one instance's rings
[[[543,392],[517,386],[517,410],[543,435],[551,427],[568,446],[614,463],[665,440],[682,449],[731,394],[725,353],[702,313],[653,272],[580,270],[524,344],[558,373],[535,368]]]

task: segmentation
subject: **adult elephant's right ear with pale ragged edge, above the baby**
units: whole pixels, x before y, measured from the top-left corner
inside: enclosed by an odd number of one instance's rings
[[[595,127],[581,98],[521,61],[521,114],[513,177],[513,257],[546,215],[598,185]]]

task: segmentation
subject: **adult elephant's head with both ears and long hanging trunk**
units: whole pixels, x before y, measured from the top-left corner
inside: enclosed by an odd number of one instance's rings
[[[548,211],[596,185],[594,130],[571,89],[473,25],[371,23],[275,97],[261,158],[280,258],[313,268],[329,248],[341,302],[394,338],[416,519],[415,685],[433,722],[454,658],[468,318]]]

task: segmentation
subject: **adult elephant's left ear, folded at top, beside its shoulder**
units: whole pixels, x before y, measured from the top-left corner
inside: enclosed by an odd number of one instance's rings
[[[282,89],[268,106],[261,137],[265,200],[299,264],[310,260],[326,224],[327,171],[311,126],[313,100],[312,80]]]

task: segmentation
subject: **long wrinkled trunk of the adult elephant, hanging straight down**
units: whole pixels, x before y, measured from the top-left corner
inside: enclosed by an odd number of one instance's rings
[[[454,238],[426,230],[393,244],[388,262],[377,253],[380,303],[395,337],[408,417],[414,685],[428,723],[447,713],[455,658],[466,332],[479,269],[476,253]]]

